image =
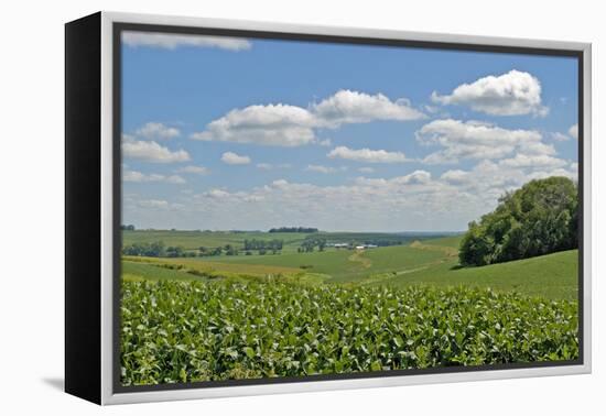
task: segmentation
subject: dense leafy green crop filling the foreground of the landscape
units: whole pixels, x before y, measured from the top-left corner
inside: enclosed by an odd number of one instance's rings
[[[123,282],[120,343],[123,385],[572,360],[577,307],[470,288]]]

